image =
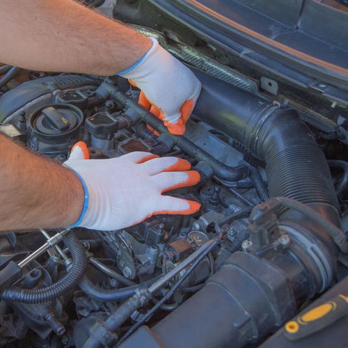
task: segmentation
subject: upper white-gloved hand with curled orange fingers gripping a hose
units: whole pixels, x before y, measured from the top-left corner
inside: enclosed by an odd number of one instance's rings
[[[157,40],[140,61],[118,74],[141,89],[139,104],[150,109],[172,134],[184,134],[185,123],[196,105],[200,81]]]

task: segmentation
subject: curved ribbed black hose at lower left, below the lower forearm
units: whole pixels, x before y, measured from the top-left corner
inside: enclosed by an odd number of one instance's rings
[[[59,296],[66,294],[79,283],[87,266],[87,257],[84,246],[73,232],[68,232],[63,241],[72,255],[72,264],[68,273],[56,283],[42,289],[21,289],[10,287],[2,294],[6,301],[17,301],[23,303],[45,303],[53,301]]]

